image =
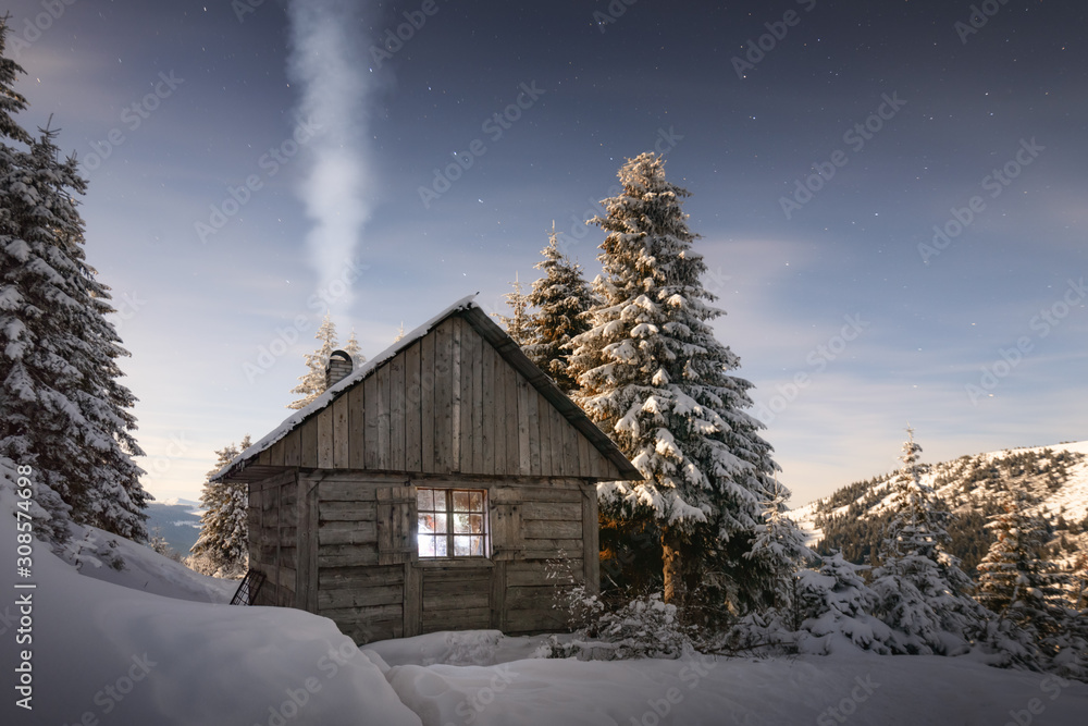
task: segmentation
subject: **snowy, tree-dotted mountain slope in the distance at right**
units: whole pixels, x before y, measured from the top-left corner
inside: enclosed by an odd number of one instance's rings
[[[848,484],[793,509],[791,517],[819,552],[841,550],[851,562],[870,564],[889,519],[888,482],[894,473]],[[927,465],[923,481],[957,516],[949,529],[949,550],[973,577],[993,541],[985,525],[997,512],[1006,483],[1027,489],[1040,500],[1036,508],[1051,522],[1054,559],[1072,566],[1088,557],[1088,441],[961,456]]]

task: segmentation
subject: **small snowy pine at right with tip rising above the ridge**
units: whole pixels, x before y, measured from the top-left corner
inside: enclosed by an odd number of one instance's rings
[[[903,635],[907,652],[952,654],[976,635],[984,611],[967,595],[970,578],[944,549],[952,514],[922,481],[922,446],[914,430],[906,431],[903,467],[889,482],[893,514],[871,588],[879,599],[877,614]]]

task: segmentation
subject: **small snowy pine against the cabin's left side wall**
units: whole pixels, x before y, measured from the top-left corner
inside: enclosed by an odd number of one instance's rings
[[[200,537],[189,550],[199,571],[221,577],[244,574],[249,557],[249,492],[245,482],[211,481],[211,478],[230,464],[252,442],[249,434],[235,446],[230,444],[215,452],[215,468],[208,472],[200,504]],[[202,561],[202,562],[201,562]]]

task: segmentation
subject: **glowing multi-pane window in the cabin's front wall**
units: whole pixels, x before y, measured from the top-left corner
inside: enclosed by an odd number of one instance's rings
[[[487,492],[418,489],[420,557],[486,557]]]

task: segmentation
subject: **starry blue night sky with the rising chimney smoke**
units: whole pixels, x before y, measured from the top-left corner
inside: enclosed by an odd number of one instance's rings
[[[1088,439],[1080,3],[8,7],[157,497],[288,414],[326,308],[368,356],[500,309],[553,221],[592,279],[584,220],[650,150],[794,504],[894,468],[907,423],[928,462]]]

